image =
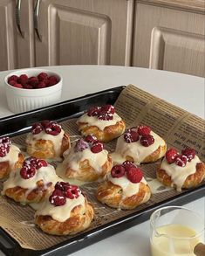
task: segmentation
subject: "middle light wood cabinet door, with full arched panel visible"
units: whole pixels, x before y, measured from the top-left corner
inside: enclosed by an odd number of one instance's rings
[[[129,66],[132,18],[133,0],[42,0],[36,65]]]

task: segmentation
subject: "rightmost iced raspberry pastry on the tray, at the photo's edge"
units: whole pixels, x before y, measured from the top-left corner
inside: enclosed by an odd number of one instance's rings
[[[190,189],[202,182],[205,177],[205,164],[195,155],[195,149],[168,149],[157,170],[157,179],[176,190]]]

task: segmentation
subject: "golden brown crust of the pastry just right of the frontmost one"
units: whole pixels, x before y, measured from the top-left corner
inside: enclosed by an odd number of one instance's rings
[[[145,183],[140,183],[139,192],[132,197],[122,197],[122,188],[110,181],[99,184],[96,197],[102,204],[113,208],[131,210],[140,204],[146,203],[151,197],[151,190]]]

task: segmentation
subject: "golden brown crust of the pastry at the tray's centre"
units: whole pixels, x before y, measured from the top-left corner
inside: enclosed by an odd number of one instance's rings
[[[96,181],[99,178],[103,178],[106,174],[112,169],[113,161],[111,156],[107,156],[106,163],[102,166],[102,170],[99,172],[98,170],[94,170],[89,163],[88,159],[79,162],[79,170],[72,170],[72,168],[68,168],[65,170],[65,176],[69,178],[75,178],[84,182],[92,182]]]

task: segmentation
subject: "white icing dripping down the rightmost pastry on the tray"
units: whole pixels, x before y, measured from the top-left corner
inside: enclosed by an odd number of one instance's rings
[[[161,170],[165,170],[167,175],[171,176],[173,184],[176,185],[176,190],[181,191],[181,187],[186,178],[195,173],[197,163],[201,163],[198,156],[195,156],[191,162],[187,162],[184,167],[181,167],[175,163],[167,163],[167,159],[164,157],[161,162]]]

